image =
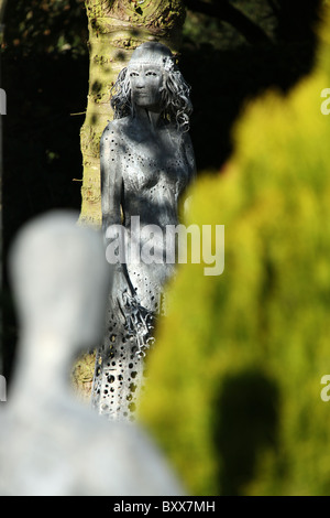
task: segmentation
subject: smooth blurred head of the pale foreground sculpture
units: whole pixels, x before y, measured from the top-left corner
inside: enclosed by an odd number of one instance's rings
[[[9,267],[21,333],[86,347],[102,335],[111,266],[100,234],[76,222],[52,212],[28,223]]]

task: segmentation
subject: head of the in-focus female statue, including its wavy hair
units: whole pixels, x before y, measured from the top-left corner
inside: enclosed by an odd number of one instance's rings
[[[133,114],[134,106],[161,112],[165,120],[188,131],[193,111],[190,87],[178,71],[175,58],[165,45],[147,42],[133,52],[112,88],[114,118]]]

